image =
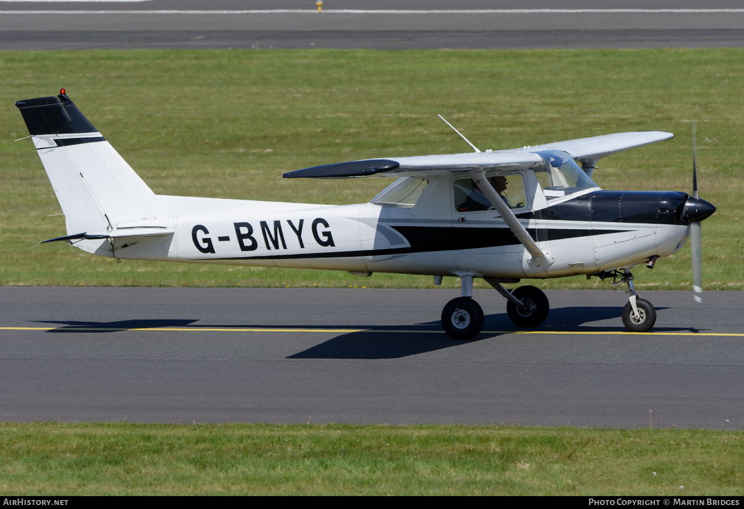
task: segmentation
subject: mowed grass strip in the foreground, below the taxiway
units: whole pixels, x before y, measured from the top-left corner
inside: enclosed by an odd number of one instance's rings
[[[743,438],[693,429],[0,423],[0,491],[742,495]]]

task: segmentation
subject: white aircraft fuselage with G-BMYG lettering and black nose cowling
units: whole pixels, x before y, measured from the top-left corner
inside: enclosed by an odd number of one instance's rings
[[[429,179],[417,202],[403,207],[156,196],[153,223],[173,228],[172,235],[77,245],[121,259],[558,278],[668,256],[689,235],[682,217],[686,193],[594,188],[550,202],[533,195],[515,213],[553,258],[549,266],[535,266],[496,211],[456,210],[454,179]]]

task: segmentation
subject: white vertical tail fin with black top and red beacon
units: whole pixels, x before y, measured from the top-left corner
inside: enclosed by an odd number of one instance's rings
[[[65,95],[19,100],[68,234],[155,217],[155,193]]]

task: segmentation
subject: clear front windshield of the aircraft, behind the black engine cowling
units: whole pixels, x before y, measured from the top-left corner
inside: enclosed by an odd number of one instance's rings
[[[537,181],[545,192],[545,198],[559,198],[597,187],[568,153],[561,150],[544,150],[536,154],[545,161],[542,168],[534,169]]]

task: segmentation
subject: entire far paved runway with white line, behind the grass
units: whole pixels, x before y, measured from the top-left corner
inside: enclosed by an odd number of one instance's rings
[[[0,0],[0,50],[743,45],[735,0]]]

